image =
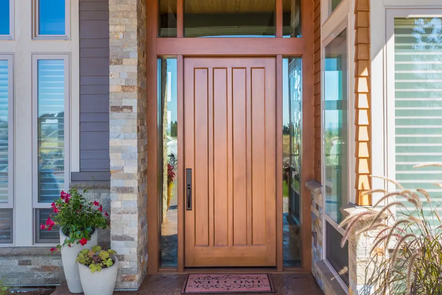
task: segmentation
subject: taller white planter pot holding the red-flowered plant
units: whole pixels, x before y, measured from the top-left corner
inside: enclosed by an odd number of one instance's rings
[[[60,244],[63,244],[64,239],[68,239],[60,229]],[[61,249],[61,261],[63,262],[64,276],[66,277],[67,287],[70,293],[83,293],[83,288],[81,287],[80,274],[78,273],[78,266],[75,260],[77,259],[78,253],[86,248],[90,248],[98,244],[98,230],[92,233],[90,241],[86,245],[82,246],[80,244],[72,244],[71,247],[63,247]]]

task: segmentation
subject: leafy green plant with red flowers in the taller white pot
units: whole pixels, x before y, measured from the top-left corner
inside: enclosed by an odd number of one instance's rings
[[[74,243],[84,246],[96,228],[106,229],[110,226],[109,214],[102,213],[103,206],[97,201],[87,202],[76,188],[69,189],[67,193],[61,191],[51,208],[54,209],[53,213],[46,224],[40,225],[40,229],[54,230],[54,226],[59,226],[61,232],[69,237],[61,245],[51,248],[51,253],[65,246],[71,247]]]

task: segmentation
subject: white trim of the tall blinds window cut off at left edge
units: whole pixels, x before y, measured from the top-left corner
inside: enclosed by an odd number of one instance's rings
[[[14,56],[0,54],[0,60],[8,61],[8,201],[0,208],[14,208]]]

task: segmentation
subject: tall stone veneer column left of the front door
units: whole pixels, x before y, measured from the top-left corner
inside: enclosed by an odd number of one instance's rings
[[[121,265],[117,289],[137,289],[147,269],[146,3],[109,1],[111,247]]]

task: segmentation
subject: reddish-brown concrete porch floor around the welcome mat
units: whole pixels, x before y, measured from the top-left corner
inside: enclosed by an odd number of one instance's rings
[[[114,292],[114,295],[180,295],[185,274],[152,274],[149,275],[138,291]],[[271,274],[276,293],[268,295],[323,295],[311,274]],[[63,284],[52,295],[70,295],[67,285]],[[219,293],[218,293],[219,294]],[[228,295],[226,293],[225,295]],[[247,293],[251,294],[251,293]],[[233,295],[247,295],[235,293]],[[98,295],[98,294],[97,294]]]

